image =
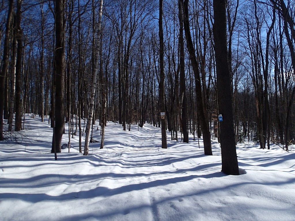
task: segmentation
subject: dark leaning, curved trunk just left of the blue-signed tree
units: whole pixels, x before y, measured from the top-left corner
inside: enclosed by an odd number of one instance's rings
[[[194,76],[195,76],[195,84],[196,84],[196,105],[197,111],[199,114],[199,121],[201,125],[201,130],[203,133],[203,141],[204,141],[204,152],[205,155],[212,155],[212,148],[211,148],[211,138],[210,138],[210,131],[209,125],[207,122],[207,118],[204,112],[204,105],[203,105],[203,98],[202,98],[202,88],[201,88],[201,78],[200,78],[200,71],[199,71],[199,64],[196,59],[194,44],[191,39],[191,31],[189,26],[189,0],[185,0],[183,4],[183,11],[184,11],[184,32],[186,36],[186,44],[187,49],[189,51],[189,58],[191,60],[191,65],[193,67]],[[205,99],[205,98],[204,98]]]

